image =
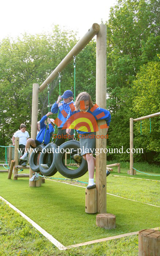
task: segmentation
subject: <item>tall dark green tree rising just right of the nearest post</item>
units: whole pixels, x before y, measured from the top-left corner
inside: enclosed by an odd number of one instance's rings
[[[129,148],[129,118],[137,116],[136,109],[133,110],[133,81],[140,66],[158,61],[157,7],[157,0],[118,0],[110,10],[106,24],[107,105],[112,114],[109,131],[112,147]],[[127,154],[109,155],[113,157],[129,160]]]

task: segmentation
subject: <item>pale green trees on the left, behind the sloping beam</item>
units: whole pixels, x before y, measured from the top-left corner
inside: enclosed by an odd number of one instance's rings
[[[75,33],[59,26],[55,26],[50,34],[25,34],[16,40],[6,38],[0,42],[0,145],[11,141],[21,123],[28,124],[30,131],[33,83],[40,86],[76,42]],[[70,84],[70,65],[65,71],[62,90]],[[57,84],[57,79],[50,84],[51,105],[59,95]],[[40,93],[39,118],[46,112],[47,89]]]

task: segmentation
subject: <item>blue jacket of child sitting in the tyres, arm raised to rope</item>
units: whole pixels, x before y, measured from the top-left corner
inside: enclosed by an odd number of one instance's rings
[[[45,134],[45,130],[46,130],[46,125],[44,123],[45,119],[47,118],[47,116],[43,116],[40,120],[40,131],[37,134],[36,140],[38,140],[40,143],[42,143],[43,139],[44,139],[44,134]],[[46,134],[45,134],[45,139],[44,139],[44,144],[47,145],[50,142],[52,133],[54,132],[54,128],[51,125],[51,123],[48,125],[49,128],[47,128],[46,130]]]

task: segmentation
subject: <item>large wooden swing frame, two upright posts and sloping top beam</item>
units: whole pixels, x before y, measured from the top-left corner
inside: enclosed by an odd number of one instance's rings
[[[31,117],[31,138],[35,139],[37,130],[38,118],[38,93],[42,92],[49,83],[55,79],[72,60],[89,42],[97,35],[96,40],[96,103],[101,108],[106,108],[106,26],[104,24],[98,25],[94,23],[88,32],[79,40],[79,42],[72,48],[66,57],[60,62],[55,70],[48,76],[48,78],[39,85],[33,84],[33,100],[32,100],[32,117]],[[100,129],[101,125],[105,125],[104,120],[98,120],[98,131],[96,135],[105,136],[105,129]],[[96,136],[97,137],[97,136]],[[106,148],[106,140],[96,138],[97,148]],[[15,164],[17,166],[17,164]],[[30,177],[33,172],[30,168]],[[41,177],[38,181],[29,181],[30,187],[41,186]],[[96,156],[96,188],[97,188],[97,212],[106,213],[106,154],[102,153]]]

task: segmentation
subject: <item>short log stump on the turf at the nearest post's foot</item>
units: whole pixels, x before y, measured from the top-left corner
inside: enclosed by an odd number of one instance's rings
[[[116,228],[116,216],[111,213],[100,213],[96,216],[96,225],[100,228]]]

